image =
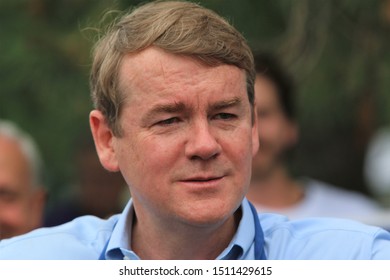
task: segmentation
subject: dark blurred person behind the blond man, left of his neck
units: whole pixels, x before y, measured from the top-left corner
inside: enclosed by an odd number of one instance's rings
[[[75,185],[70,195],[49,208],[45,226],[60,225],[84,215],[108,218],[120,213],[129,198],[122,174],[109,172],[100,164],[92,137],[81,137],[77,144]]]

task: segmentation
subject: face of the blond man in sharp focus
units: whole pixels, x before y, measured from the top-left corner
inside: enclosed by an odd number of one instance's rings
[[[149,48],[125,56],[115,161],[137,215],[197,226],[226,221],[258,148],[243,71]]]

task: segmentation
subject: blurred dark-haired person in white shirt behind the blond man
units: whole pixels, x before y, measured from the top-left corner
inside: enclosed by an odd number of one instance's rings
[[[289,172],[299,139],[293,81],[271,53],[255,54],[255,67],[260,148],[253,159],[248,199],[260,212],[290,219],[329,216],[369,221],[379,211],[374,200],[311,178],[297,179]]]

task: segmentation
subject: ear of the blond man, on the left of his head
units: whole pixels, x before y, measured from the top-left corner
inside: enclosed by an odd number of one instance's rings
[[[113,139],[115,136],[102,112],[99,110],[91,111],[89,114],[89,124],[101,164],[108,171],[118,171],[118,161],[113,147]]]

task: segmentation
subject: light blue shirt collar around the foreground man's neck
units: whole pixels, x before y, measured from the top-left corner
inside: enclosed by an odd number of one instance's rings
[[[221,260],[238,260],[254,258],[255,226],[249,203],[246,199],[241,204],[242,217],[236,234],[230,244],[218,256]],[[132,200],[127,203],[108,241],[105,253],[106,259],[131,259],[139,257],[129,248],[131,245],[131,229],[133,225],[134,208]]]

